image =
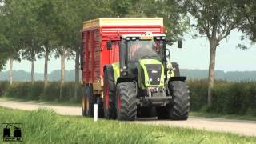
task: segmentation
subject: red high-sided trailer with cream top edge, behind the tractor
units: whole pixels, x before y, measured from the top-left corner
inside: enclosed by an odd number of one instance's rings
[[[82,82],[93,86],[94,94],[102,93],[103,66],[119,61],[122,34],[152,32],[163,34],[162,18],[98,18],[83,22],[82,29]],[[111,40],[112,50],[106,43]]]

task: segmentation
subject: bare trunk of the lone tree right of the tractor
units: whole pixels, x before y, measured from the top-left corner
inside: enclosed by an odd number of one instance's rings
[[[216,42],[210,42],[210,64],[209,64],[209,76],[208,76],[208,106],[212,106],[214,88],[214,69],[215,69],[215,56],[216,56]]]

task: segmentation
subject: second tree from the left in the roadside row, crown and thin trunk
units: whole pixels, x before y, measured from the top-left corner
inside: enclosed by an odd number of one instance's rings
[[[7,2],[7,0],[6,0]],[[31,62],[31,82],[34,83],[34,62],[36,57],[42,58],[42,41],[40,40],[38,8],[40,2],[35,0],[20,0],[12,2],[14,10],[17,11],[17,18],[14,22],[18,23],[18,30],[21,39],[22,58]],[[38,54],[38,55],[37,55]]]

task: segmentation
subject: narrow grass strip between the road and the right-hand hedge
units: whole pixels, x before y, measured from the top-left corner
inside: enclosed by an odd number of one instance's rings
[[[190,115],[197,116],[197,117],[205,117],[205,118],[226,118],[226,119],[256,121],[255,115],[214,114],[214,113],[195,112],[195,111],[190,112]]]

